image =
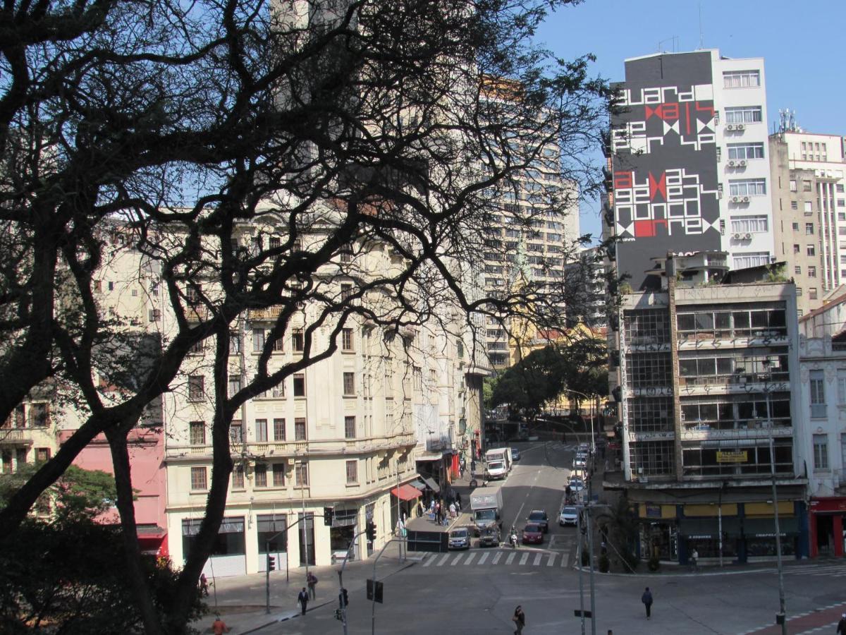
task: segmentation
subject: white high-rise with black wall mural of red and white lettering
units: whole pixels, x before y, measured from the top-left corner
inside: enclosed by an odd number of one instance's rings
[[[618,91],[605,217],[618,273],[656,288],[651,258],[668,251],[725,251],[733,269],[772,262],[763,59],[630,58]]]

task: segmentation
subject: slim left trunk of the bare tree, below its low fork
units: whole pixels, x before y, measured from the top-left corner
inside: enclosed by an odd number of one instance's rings
[[[135,595],[134,604],[141,614],[146,632],[150,635],[163,635],[162,624],[159,620],[156,606],[147,586],[146,576],[141,567],[141,549],[138,544],[138,532],[135,524],[135,504],[132,492],[132,473],[129,466],[129,451],[126,448],[126,436],[132,424],[124,424],[122,429],[107,434],[109,449],[112,451],[112,465],[114,467],[114,483],[118,490],[118,512],[124,536],[124,557],[126,570],[129,574],[129,584]]]

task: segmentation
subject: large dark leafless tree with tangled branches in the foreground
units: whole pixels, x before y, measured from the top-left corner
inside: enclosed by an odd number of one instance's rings
[[[180,632],[222,519],[229,424],[244,400],[331,356],[350,317],[399,331],[449,306],[470,324],[481,314],[557,324],[563,284],[523,276],[486,295],[476,283],[486,257],[508,259],[488,232],[500,217],[530,229],[599,183],[584,157],[605,121],[605,83],[588,75],[590,58],[529,44],[547,11],[576,3],[8,3],[0,420],[45,382],[87,417],[0,511],[0,535],[105,433],[146,631]],[[367,264],[384,249],[390,267]],[[161,340],[98,300],[97,273],[121,250],[139,254],[141,278],[161,275],[173,315]],[[338,290],[342,278],[350,290]],[[228,395],[239,316],[278,307],[281,335],[304,305],[302,358],[269,371],[268,340],[261,372]],[[203,340],[214,343],[211,490],[181,591],[160,616],[140,567],[127,434]]]

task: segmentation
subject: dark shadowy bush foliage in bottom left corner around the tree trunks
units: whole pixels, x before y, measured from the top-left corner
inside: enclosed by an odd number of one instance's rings
[[[27,520],[0,553],[0,632],[143,632],[125,561],[118,527],[84,514]],[[141,566],[157,612],[168,615],[177,572],[151,555]],[[204,610],[198,594],[191,619]]]

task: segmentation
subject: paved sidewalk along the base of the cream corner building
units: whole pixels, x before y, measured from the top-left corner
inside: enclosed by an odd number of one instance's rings
[[[373,560],[370,559],[349,562],[343,570],[343,587],[350,596],[361,599],[365,595],[366,580],[373,577]],[[377,563],[378,579],[392,576],[409,566],[415,565],[415,560],[400,561],[398,545],[389,544],[384,555]],[[316,599],[308,604],[306,615],[302,616],[297,603],[299,591],[305,587],[305,567],[292,568],[285,581],[285,572],[271,572],[270,576],[270,613],[266,612],[265,574],[255,573],[249,576],[220,577],[210,585],[209,597],[205,598],[209,612],[200,620],[191,624],[199,632],[211,632],[211,622],[216,613],[220,613],[223,621],[230,627],[232,635],[257,632],[282,621],[308,619],[312,610],[331,605],[331,610],[338,608],[338,572],[340,565],[310,566],[318,583]],[[211,580],[210,580],[211,582]],[[350,599],[350,603],[352,599]]]

